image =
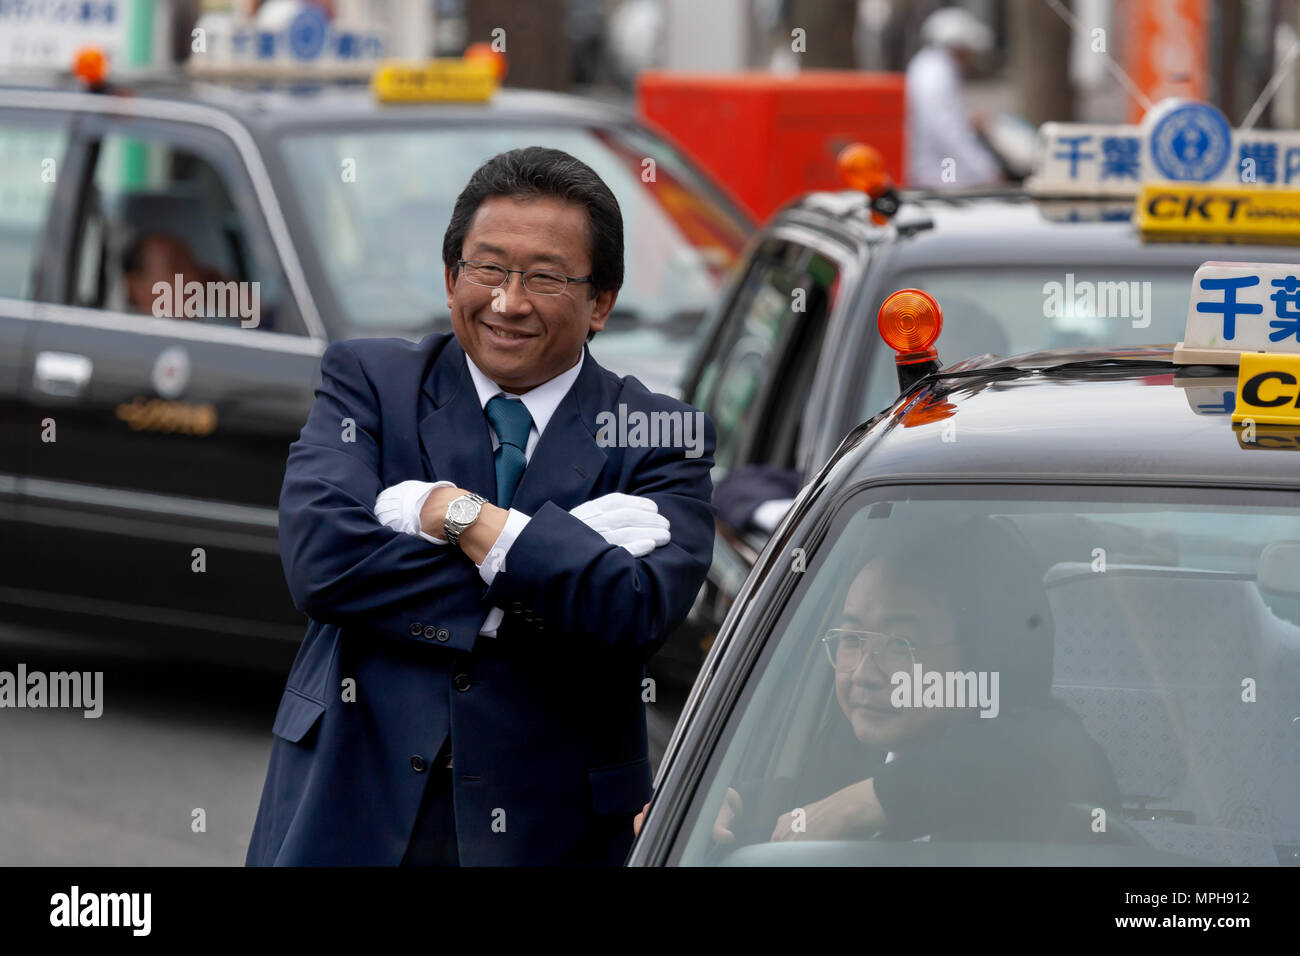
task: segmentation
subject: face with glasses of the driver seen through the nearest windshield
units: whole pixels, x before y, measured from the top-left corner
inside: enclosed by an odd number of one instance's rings
[[[923,671],[956,670],[959,663],[953,618],[883,558],[868,562],[853,580],[838,627],[905,637]],[[858,740],[897,750],[933,730],[945,711],[893,706],[890,676],[864,653],[857,667],[836,666],[835,696]]]

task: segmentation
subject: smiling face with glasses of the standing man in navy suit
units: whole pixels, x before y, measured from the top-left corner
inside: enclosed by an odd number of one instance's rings
[[[586,209],[559,199],[491,196],[474,212],[462,259],[507,269],[546,269],[588,276]],[[447,308],[456,341],[474,364],[506,392],[528,392],[577,362],[588,332],[599,332],[614,308],[615,291],[590,294],[569,282],[559,295],[524,289],[512,273],[497,289],[474,285],[446,269]]]

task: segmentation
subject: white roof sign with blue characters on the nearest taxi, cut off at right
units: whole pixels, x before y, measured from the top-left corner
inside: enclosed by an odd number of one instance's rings
[[[1175,364],[1240,364],[1243,352],[1300,355],[1300,265],[1204,263],[1192,277]]]

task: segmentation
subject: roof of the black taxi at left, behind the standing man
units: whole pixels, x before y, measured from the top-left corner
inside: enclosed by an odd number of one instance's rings
[[[38,82],[0,79],[0,92],[83,92],[68,81]],[[130,96],[134,101],[191,103],[229,113],[247,126],[277,130],[302,126],[364,124],[538,122],[562,121],[581,125],[629,125],[634,116],[621,107],[567,94],[536,90],[498,90],[486,103],[385,104],[364,83],[278,79],[274,82],[205,82],[183,74],[127,77],[101,94]]]

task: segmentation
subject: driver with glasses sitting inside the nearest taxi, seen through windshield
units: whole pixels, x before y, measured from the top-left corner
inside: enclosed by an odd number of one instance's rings
[[[1106,842],[1114,773],[1052,697],[1052,614],[1017,532],[980,519],[874,557],[829,623],[835,706],[803,773],[729,787],[715,843]]]

